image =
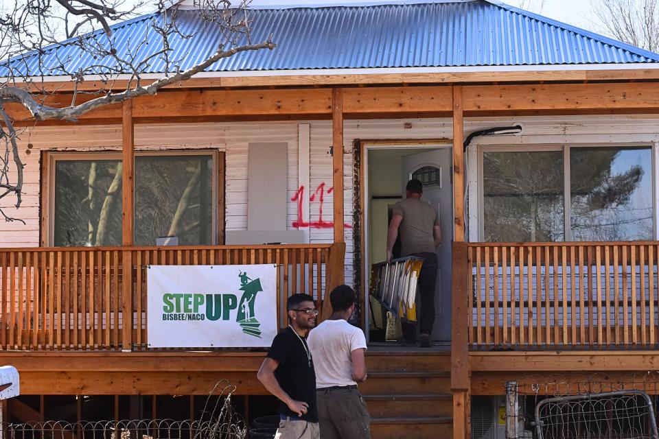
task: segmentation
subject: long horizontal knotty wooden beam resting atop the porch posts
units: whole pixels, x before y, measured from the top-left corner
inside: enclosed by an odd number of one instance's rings
[[[518,84],[452,86],[382,86],[342,88],[344,118],[415,115],[445,117],[455,112],[455,93],[462,88],[464,115],[607,114],[657,112],[659,82],[599,84]],[[140,123],[203,120],[300,120],[332,117],[333,89],[286,88],[270,90],[165,90],[132,103],[132,117]],[[336,92],[338,93],[338,92]],[[52,103],[67,104],[70,95],[54,95]],[[30,121],[21,106],[8,104],[19,123]],[[80,123],[109,123],[122,117],[117,105],[97,108]],[[65,123],[47,121],[47,123]]]

